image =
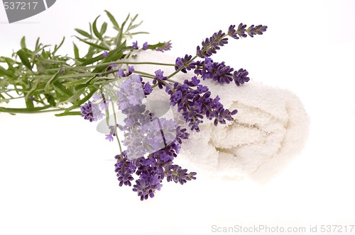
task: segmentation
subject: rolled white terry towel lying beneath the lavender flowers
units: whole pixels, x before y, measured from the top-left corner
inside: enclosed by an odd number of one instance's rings
[[[175,58],[161,52],[142,52],[135,61],[175,63]],[[232,65],[233,66],[233,65]],[[157,69],[168,75],[170,67],[135,65],[136,70],[153,74]],[[178,74],[183,81],[194,76]],[[190,131],[182,143],[176,162],[190,171],[225,179],[251,178],[266,182],[285,168],[302,149],[307,138],[309,117],[300,99],[290,91],[273,88],[256,81],[243,86],[202,81],[212,96],[219,96],[224,108],[237,109],[234,122],[215,127],[205,120],[201,132]],[[153,91],[148,100],[166,100],[164,91]],[[173,108],[175,121],[181,124],[180,113]]]

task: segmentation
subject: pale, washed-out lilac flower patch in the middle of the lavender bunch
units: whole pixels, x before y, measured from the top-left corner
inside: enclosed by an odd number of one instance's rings
[[[173,120],[153,117],[142,104],[146,97],[143,87],[146,86],[142,85],[141,77],[133,74],[117,91],[119,109],[126,115],[125,125],[119,128],[125,131],[122,143],[127,147],[129,160],[163,149],[175,139]]]

